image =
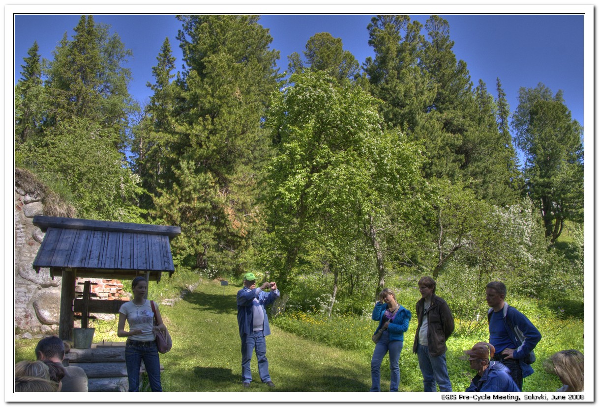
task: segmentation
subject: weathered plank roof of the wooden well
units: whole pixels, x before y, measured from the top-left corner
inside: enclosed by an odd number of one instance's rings
[[[65,269],[111,279],[150,273],[159,281],[163,271],[174,272],[170,240],[181,234],[179,227],[52,216],[35,216],[33,223],[46,232],[33,262],[38,273],[42,267],[52,277]]]

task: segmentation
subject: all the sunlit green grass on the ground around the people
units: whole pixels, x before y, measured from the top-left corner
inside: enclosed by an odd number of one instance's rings
[[[173,350],[161,355],[165,367],[162,384],[165,391],[368,391],[370,358],[374,344],[370,336],[376,322],[350,314],[331,319],[317,314],[287,313],[271,321],[267,337],[270,374],[276,387],[260,382],[255,356],[252,358],[253,384],[241,387],[241,351],[237,326],[235,295],[239,285],[229,282],[204,282],[173,307],[162,305],[161,313],[173,337]],[[223,295],[224,292],[224,295]],[[543,308],[531,305],[531,320],[543,339],[536,348],[535,373],[524,380],[525,391],[555,391],[558,378],[543,371],[543,359],[555,351],[583,350],[583,323],[579,319],[540,317]],[[537,310],[537,311],[535,311]],[[458,321],[458,326],[459,326]],[[111,322],[96,328],[94,341],[122,340],[107,331]],[[418,359],[412,354],[416,321],[413,318],[404,337],[401,354],[400,391],[422,391]],[[114,327],[116,331],[116,326]],[[116,339],[111,339],[116,338]],[[479,330],[471,335],[456,335],[448,341],[447,366],[454,391],[467,387],[473,372],[459,360],[464,349],[488,339]],[[15,361],[31,359],[37,339],[15,341]],[[382,388],[389,388],[388,357],[381,367]]]

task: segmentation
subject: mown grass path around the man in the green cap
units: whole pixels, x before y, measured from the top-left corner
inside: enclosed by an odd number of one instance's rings
[[[255,355],[252,387],[241,386],[241,343],[235,296],[239,287],[202,284],[174,307],[162,307],[173,350],[161,355],[166,391],[367,391],[370,359],[320,345],[271,325],[267,356],[274,389],[260,382]],[[383,375],[383,386],[388,386]]]

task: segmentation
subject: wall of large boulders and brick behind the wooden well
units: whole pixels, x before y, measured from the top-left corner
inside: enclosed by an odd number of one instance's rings
[[[60,317],[61,278],[50,278],[50,270],[41,268],[40,273],[32,268],[44,233],[33,224],[35,215],[44,215],[40,194],[25,191],[19,186],[14,189],[14,331],[18,336],[33,336],[58,333]],[[119,280],[87,279],[91,281],[92,298],[124,299]],[[83,279],[77,279],[75,292],[83,292]],[[93,317],[114,319],[111,314]],[[75,319],[75,326],[80,320]]]

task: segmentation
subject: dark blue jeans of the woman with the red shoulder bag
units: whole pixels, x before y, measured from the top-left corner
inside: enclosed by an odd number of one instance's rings
[[[129,391],[140,391],[140,366],[141,360],[146,366],[146,373],[150,380],[152,391],[162,391],[160,382],[160,357],[156,341],[140,342],[127,341],[125,345],[125,364],[129,379]]]

